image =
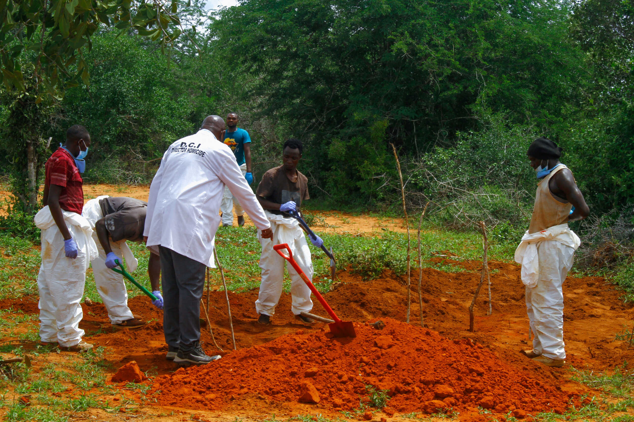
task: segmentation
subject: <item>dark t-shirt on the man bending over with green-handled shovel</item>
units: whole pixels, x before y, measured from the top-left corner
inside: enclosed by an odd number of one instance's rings
[[[148,203],[127,196],[110,196],[99,201],[101,215],[112,241],[143,240]]]

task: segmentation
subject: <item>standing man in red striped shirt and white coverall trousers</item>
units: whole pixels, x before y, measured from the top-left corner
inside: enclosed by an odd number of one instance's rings
[[[66,132],[66,144],[46,162],[42,208],[35,217],[42,230],[42,265],[39,288],[40,338],[44,345],[60,345],[82,352],[93,345],[82,340],[84,330],[81,298],[86,269],[96,245],[90,224],[81,216],[84,191],[82,160],[90,145],[90,134],[82,125]]]

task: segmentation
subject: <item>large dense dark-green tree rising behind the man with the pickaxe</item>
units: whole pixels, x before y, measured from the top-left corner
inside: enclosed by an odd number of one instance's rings
[[[585,75],[554,1],[246,0],[219,17],[245,98],[311,140],[313,174],[340,200],[375,198],[389,143],[420,156],[479,129],[475,106],[564,122]]]

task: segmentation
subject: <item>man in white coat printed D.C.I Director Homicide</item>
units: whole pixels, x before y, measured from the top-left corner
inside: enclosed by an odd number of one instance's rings
[[[261,237],[273,237],[233,152],[218,141],[224,127],[223,118],[209,116],[196,134],[171,144],[150,186],[143,236],[149,248],[159,250],[166,357],[179,364],[220,359],[202,350],[199,317],[205,267],[215,267],[214,236],[221,220],[217,210],[225,185]]]

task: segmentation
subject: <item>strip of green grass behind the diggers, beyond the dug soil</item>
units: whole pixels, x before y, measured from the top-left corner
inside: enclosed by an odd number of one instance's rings
[[[382,218],[391,217],[382,215]],[[311,222],[323,238],[325,245],[332,246],[337,259],[337,269],[350,269],[364,279],[380,276],[384,269],[392,269],[398,275],[406,271],[406,235],[385,231],[376,237],[353,237],[347,234],[321,233],[318,226],[325,225],[320,215],[311,215]],[[505,237],[508,230],[500,231],[492,236],[489,245],[489,257],[492,260],[511,260],[517,239]],[[492,232],[493,233],[493,232]],[[510,236],[510,234],[508,234]],[[445,272],[464,271],[459,265],[451,263],[434,263],[430,259],[436,255],[451,252],[457,255],[455,260],[481,259],[482,236],[477,232],[446,231],[427,223],[421,233],[422,259],[424,267],[431,267]],[[32,243],[20,238],[0,234],[0,249],[8,251],[8,255],[0,255],[0,299],[19,297],[30,294],[37,295],[37,272],[39,271],[39,251],[32,248]],[[151,288],[148,277],[149,251],[139,243],[129,243],[131,250],[139,260],[133,277],[146,288]],[[217,231],[216,247],[219,259],[225,270],[228,289],[231,291],[247,291],[259,287],[261,269],[258,266],[261,246],[253,227],[222,227]],[[320,291],[330,290],[330,260],[320,249],[311,247],[313,255],[314,279]],[[251,253],[249,253],[251,252]],[[411,267],[417,265],[416,230],[411,231]],[[452,258],[453,259],[453,258]],[[212,284],[221,285],[217,269],[210,270]],[[135,286],[128,283],[129,297],[142,295]],[[290,291],[290,279],[285,277],[284,290]],[[92,271],[87,272],[85,296],[93,302],[101,302],[101,297],[94,285]]]

